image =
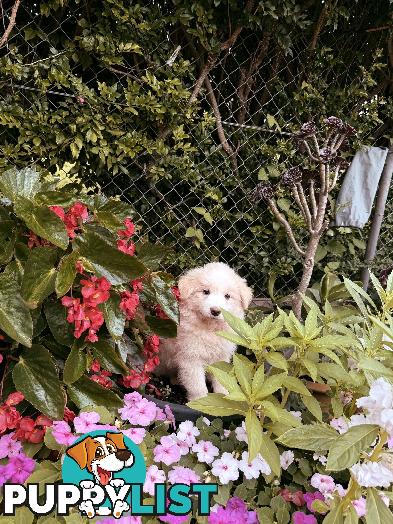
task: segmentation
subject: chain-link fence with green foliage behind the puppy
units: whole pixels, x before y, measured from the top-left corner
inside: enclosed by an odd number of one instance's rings
[[[92,162],[83,166],[75,163],[69,147],[67,154],[64,149],[63,157],[52,156],[48,161],[44,160],[42,152],[32,154],[27,165],[32,162],[43,165],[48,176],[49,173],[60,174],[62,185],[81,182],[88,189],[99,187],[104,194],[132,204],[139,214],[136,224],[139,238],[144,242],[163,242],[173,248],[165,267],[175,276],[192,265],[222,260],[248,279],[257,297],[266,296],[271,271],[278,275],[275,292],[291,293],[300,280],[301,257],[289,245],[270,212],[262,205],[252,205],[250,192],[258,181],[277,182],[281,172],[291,165],[298,163],[304,168],[310,167],[292,146],[291,138],[299,126],[311,118],[321,122],[321,115],[336,114],[350,120],[360,127],[356,148],[364,144],[387,145],[390,119],[389,112],[384,113],[387,106],[381,102],[388,98],[390,89],[386,73],[388,30],[378,28],[377,22],[382,19],[380,16],[384,10],[381,5],[385,3],[372,6],[370,2],[361,1],[345,12],[342,8],[342,14],[337,13],[337,9],[331,12],[329,2],[328,12],[323,14],[321,6],[318,5],[317,9],[313,2],[306,2],[299,13],[288,12],[287,17],[298,17],[298,27],[293,29],[293,33],[281,37],[277,37],[279,28],[273,22],[266,27],[255,27],[252,16],[257,6],[249,3],[245,8],[249,22],[242,23],[236,39],[233,35],[238,27],[237,18],[242,13],[239,9],[231,11],[228,4],[225,23],[229,23],[226,30],[229,43],[225,49],[219,46],[219,51],[212,51],[212,41],[209,41],[208,49],[207,40],[201,39],[204,31],[201,32],[200,27],[205,15],[192,12],[192,6],[184,11],[193,17],[187,26],[182,21],[171,21],[178,4],[146,2],[140,6],[124,2],[125,9],[135,10],[139,6],[143,12],[139,24],[146,24],[150,17],[150,30],[154,24],[151,17],[156,16],[157,20],[164,22],[158,24],[155,36],[149,42],[139,35],[135,41],[141,45],[140,51],[123,53],[118,64],[113,57],[105,59],[107,51],[104,57],[99,55],[97,42],[91,52],[86,53],[87,40],[84,40],[92,36],[97,40],[103,34],[97,15],[100,9],[111,6],[119,9],[123,3],[92,4],[95,10],[86,2],[65,0],[18,5],[15,24],[8,38],[2,40],[1,47],[3,169],[12,165],[23,167],[15,150],[18,145],[22,148],[22,144],[26,144],[29,134],[34,134],[34,125],[49,127],[53,118],[59,118],[60,110],[69,111],[68,107],[75,101],[79,102],[82,111],[89,104],[83,95],[86,89],[102,93],[103,82],[108,88],[116,85],[118,97],[114,101],[108,97],[105,105],[106,123],[111,118],[115,120],[113,125],[118,136],[123,132],[130,134],[135,125],[136,133],[146,135],[156,145],[155,154],[150,155],[146,148],[137,151],[117,172],[102,161],[99,175],[93,172]],[[261,4],[264,14],[269,17],[268,3]],[[3,2],[4,28],[10,24],[15,5]],[[253,9],[249,5],[253,5]],[[207,8],[201,9],[209,13]],[[384,9],[387,12],[386,6]],[[110,17],[105,12],[104,16]],[[200,26],[198,19],[202,20]],[[139,32],[143,30],[138,29]],[[105,38],[110,38],[109,21],[105,31],[109,32]],[[218,41],[220,28],[216,34],[213,38]],[[74,53],[70,50],[70,42],[77,45]],[[143,47],[144,43],[146,47]],[[78,45],[79,48],[84,46],[83,61],[77,53]],[[118,48],[118,43],[116,46]],[[56,60],[65,54],[70,70],[64,81],[57,78],[61,69]],[[213,60],[214,65],[210,67]],[[12,69],[16,63],[23,66],[19,77]],[[209,66],[209,71],[203,77],[206,66]],[[37,83],[45,68],[56,70],[52,85]],[[39,71],[36,77],[30,74],[34,70]],[[67,80],[71,75],[81,79],[83,89]],[[127,89],[130,85],[138,85],[139,96],[157,95],[151,89],[151,78],[157,81],[179,78],[182,89],[198,95],[196,111],[172,125],[169,133],[165,118],[162,122],[156,119],[152,125],[146,118],[132,123],[128,117],[117,121],[119,114],[129,114]],[[100,83],[99,88],[97,83]],[[194,91],[196,85],[200,87],[199,91]],[[187,102],[184,98],[179,104],[186,107]],[[23,124],[23,115],[19,115],[22,125],[17,130],[18,126],[13,122],[15,113],[13,118],[9,116],[15,107],[25,115],[41,108],[43,121],[39,116],[29,127]],[[97,113],[102,109],[92,105],[91,108]],[[29,117],[29,122],[32,121],[34,116]],[[67,133],[68,130],[64,130],[66,139]],[[181,134],[185,137],[182,144],[189,143],[188,148],[177,147]],[[24,139],[21,140],[20,136]],[[62,139],[56,136],[57,140]],[[103,141],[97,140],[95,154],[101,160],[107,158],[106,147]],[[48,154],[49,149],[48,146]],[[352,154],[353,151],[347,155]],[[283,194],[280,204],[299,241],[305,241],[304,224],[289,196]],[[393,192],[389,195],[387,208],[377,254],[383,265],[393,261]],[[334,238],[327,236],[323,240],[326,255],[316,265],[314,281],[323,275],[324,267],[350,276],[358,275],[367,231],[366,226],[360,233],[336,231]],[[355,246],[352,236],[356,238]],[[338,242],[343,250],[334,250],[332,241]],[[329,263],[331,266],[326,266]]]

